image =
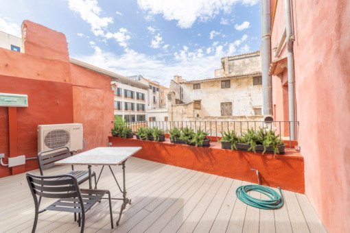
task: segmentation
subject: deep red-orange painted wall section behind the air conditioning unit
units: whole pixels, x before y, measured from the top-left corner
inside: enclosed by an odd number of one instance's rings
[[[0,75],[0,93],[28,95],[28,108],[16,108],[17,156],[36,157],[38,125],[73,122],[71,84]],[[0,107],[0,151],[5,154],[5,163],[9,155],[8,122],[8,108]],[[37,168],[36,160],[27,160],[24,171]],[[0,177],[7,175],[11,170],[0,166]]]

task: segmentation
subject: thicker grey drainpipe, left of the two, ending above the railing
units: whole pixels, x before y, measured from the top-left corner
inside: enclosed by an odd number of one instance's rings
[[[272,116],[272,81],[268,75],[271,63],[270,0],[261,0],[261,72],[263,114]]]

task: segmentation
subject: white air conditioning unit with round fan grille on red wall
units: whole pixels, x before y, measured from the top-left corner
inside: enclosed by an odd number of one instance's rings
[[[38,125],[38,152],[58,147],[82,149],[82,124]]]

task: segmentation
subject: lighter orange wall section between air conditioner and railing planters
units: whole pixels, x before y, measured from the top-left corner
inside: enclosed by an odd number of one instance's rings
[[[86,149],[106,147],[110,129],[114,126],[110,78],[71,64],[71,80],[74,122],[83,124]]]

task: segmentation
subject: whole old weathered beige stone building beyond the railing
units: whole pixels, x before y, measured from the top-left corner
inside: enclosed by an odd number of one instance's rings
[[[168,94],[170,121],[261,119],[260,52],[222,58],[221,62],[222,69],[213,78],[187,81],[174,76]]]

